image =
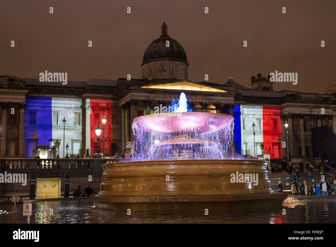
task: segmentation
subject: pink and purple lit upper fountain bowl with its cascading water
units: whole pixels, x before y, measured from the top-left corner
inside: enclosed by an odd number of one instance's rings
[[[172,112],[135,118],[132,129],[133,159],[233,159],[233,117],[191,112],[182,92],[172,100]]]

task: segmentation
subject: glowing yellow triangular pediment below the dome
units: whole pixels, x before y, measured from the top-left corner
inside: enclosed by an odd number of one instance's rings
[[[152,85],[152,86],[143,86],[141,88],[157,88],[157,89],[171,89],[171,90],[190,90],[190,91],[208,91],[208,92],[223,92],[224,90],[220,90],[217,88],[202,86],[198,84],[194,84],[191,82],[175,82],[175,83],[167,83],[160,85]]]

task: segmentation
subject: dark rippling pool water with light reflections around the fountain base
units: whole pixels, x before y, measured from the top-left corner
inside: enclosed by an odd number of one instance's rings
[[[323,198],[323,199],[322,199]],[[334,223],[336,197],[288,197],[277,208],[209,211],[110,211],[89,199],[42,201],[32,204],[31,223]],[[286,209],[286,215],[283,210]],[[53,215],[50,215],[53,209]],[[22,204],[0,204],[0,223],[27,223]]]

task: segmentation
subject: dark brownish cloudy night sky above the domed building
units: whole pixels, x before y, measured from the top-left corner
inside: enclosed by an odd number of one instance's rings
[[[250,87],[251,76],[278,70],[298,73],[299,91],[324,92],[336,84],[335,12],[336,1],[317,0],[2,0],[0,75],[38,79],[47,70],[68,72],[69,81],[139,78],[143,53],[166,22],[187,54],[189,80],[209,74],[219,83],[232,75]],[[274,84],[283,89],[296,86]]]

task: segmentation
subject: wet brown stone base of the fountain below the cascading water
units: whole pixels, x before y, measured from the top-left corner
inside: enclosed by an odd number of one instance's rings
[[[262,160],[159,160],[103,164],[98,208],[110,210],[227,210],[280,206]],[[258,174],[238,182],[231,174]]]

